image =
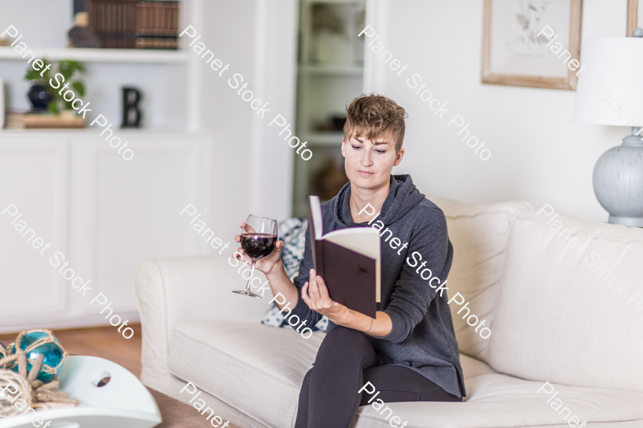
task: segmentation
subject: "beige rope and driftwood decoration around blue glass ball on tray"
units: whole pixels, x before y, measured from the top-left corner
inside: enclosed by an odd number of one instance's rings
[[[44,333],[24,350],[22,340],[25,335],[31,333]],[[55,367],[44,363],[44,352],[38,349],[43,345],[55,343],[60,348],[62,357]],[[28,358],[31,352],[36,360]],[[60,386],[57,374],[62,367],[68,353],[60,342],[54,337],[51,330],[29,330],[20,332],[16,342],[5,348],[0,344],[0,419],[14,416],[26,411],[29,407],[34,409],[50,409],[54,407],[73,407],[78,404],[77,399],[69,397],[64,391],[57,390]],[[28,365],[31,369],[27,372]],[[17,368],[17,372],[15,371]],[[53,379],[43,382],[41,379]],[[24,403],[24,405],[22,405]],[[19,404],[21,407],[19,407]]]

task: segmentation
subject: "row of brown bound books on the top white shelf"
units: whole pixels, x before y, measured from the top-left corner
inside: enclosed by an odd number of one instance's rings
[[[178,49],[179,1],[89,0],[89,26],[111,49]]]

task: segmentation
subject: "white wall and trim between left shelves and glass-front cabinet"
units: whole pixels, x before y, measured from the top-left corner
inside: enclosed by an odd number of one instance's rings
[[[230,64],[221,77],[204,61],[196,64],[201,126],[215,141],[211,183],[217,195],[209,218],[221,235],[234,237],[249,214],[282,220],[291,213],[292,149],[268,124],[277,113],[294,123],[296,3],[208,0],[193,16],[201,21],[193,24],[203,34],[199,41]],[[234,73],[269,103],[263,119],[229,86]]]

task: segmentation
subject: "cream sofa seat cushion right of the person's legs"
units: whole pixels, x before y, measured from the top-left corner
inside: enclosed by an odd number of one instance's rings
[[[544,382],[530,382],[504,374],[483,374],[467,379],[466,384],[467,392],[471,394],[467,402],[399,402],[387,403],[387,406],[393,414],[402,417],[402,421],[408,421],[408,427],[414,428],[578,427],[579,424],[569,424],[572,416],[578,417],[580,423],[587,421],[587,428],[602,426],[594,422],[604,422],[606,427],[614,428],[621,424],[624,428],[643,426],[643,407],[640,405],[643,394],[640,392],[554,384],[554,392],[558,394],[547,403],[553,393],[538,393]],[[556,399],[562,402],[562,407],[558,407]],[[556,403],[558,412],[552,408],[552,403]],[[564,407],[571,409],[571,415]],[[627,421],[633,419],[637,424],[628,427]],[[387,425],[376,409],[364,406],[359,409],[354,427],[384,428]]]

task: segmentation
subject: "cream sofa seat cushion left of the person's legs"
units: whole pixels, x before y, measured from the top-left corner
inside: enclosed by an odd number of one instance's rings
[[[289,427],[324,335],[304,339],[292,328],[186,322],[172,332],[169,368],[267,427]]]

